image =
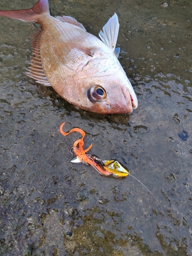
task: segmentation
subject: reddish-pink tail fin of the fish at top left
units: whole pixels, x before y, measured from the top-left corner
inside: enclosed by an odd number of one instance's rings
[[[48,0],[39,0],[31,9],[0,11],[0,15],[23,20],[24,22],[38,22],[39,15],[49,12]]]

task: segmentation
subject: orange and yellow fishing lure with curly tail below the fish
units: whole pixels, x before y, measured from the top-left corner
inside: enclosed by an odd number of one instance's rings
[[[100,160],[97,156],[86,154],[92,147],[92,143],[91,143],[91,145],[86,150],[83,150],[83,144],[84,144],[83,140],[84,140],[84,137],[86,136],[86,133],[79,128],[73,128],[70,132],[65,133],[62,131],[62,127],[64,124],[65,122],[63,122],[60,125],[60,133],[62,135],[67,136],[68,134],[73,132],[78,132],[82,135],[82,138],[76,140],[73,144],[72,148],[76,157],[74,157],[71,160],[71,162],[73,163],[84,162],[84,163],[90,164],[93,167],[95,167],[100,174],[105,176],[113,175],[114,177],[126,177],[127,175],[129,175],[130,173],[129,170],[126,169],[126,167],[124,167],[116,159],[103,161],[103,160]]]

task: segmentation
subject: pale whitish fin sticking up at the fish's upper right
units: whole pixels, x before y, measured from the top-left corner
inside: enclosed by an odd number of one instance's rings
[[[99,32],[99,37],[105,45],[109,46],[115,51],[117,37],[119,33],[119,22],[117,14],[115,13],[103,27],[103,31]]]

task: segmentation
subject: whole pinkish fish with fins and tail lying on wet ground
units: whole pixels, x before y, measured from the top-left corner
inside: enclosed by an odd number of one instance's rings
[[[137,97],[115,48],[119,23],[114,14],[99,38],[69,16],[53,17],[48,0],[32,9],[0,11],[0,15],[40,24],[31,36],[28,76],[53,89],[79,108],[99,114],[131,113]]]

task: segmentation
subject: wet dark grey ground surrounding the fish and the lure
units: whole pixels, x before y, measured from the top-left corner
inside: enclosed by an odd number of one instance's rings
[[[36,1],[1,1],[26,9]],[[1,255],[192,255],[191,1],[50,0],[95,35],[116,12],[120,62],[138,96],[130,115],[77,109],[26,77],[34,24],[0,17]],[[165,6],[165,5],[164,5]],[[70,147],[117,158],[134,178],[73,164]]]

